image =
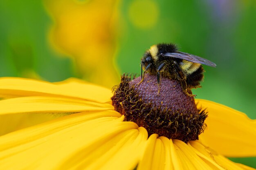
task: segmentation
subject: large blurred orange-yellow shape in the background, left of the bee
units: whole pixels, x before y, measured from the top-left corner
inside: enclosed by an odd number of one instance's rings
[[[77,71],[90,82],[111,88],[120,76],[114,64],[117,50],[116,0],[45,0],[54,20],[49,37],[54,48],[74,57]]]

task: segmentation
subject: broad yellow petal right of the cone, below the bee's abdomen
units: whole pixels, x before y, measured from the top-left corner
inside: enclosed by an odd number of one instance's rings
[[[209,111],[200,140],[227,157],[256,156],[256,120],[227,106],[197,99]]]

